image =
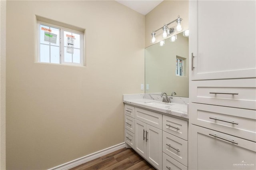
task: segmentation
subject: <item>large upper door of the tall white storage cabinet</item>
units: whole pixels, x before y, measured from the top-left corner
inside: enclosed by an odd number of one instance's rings
[[[192,80],[256,77],[255,8],[256,1],[189,1]]]

